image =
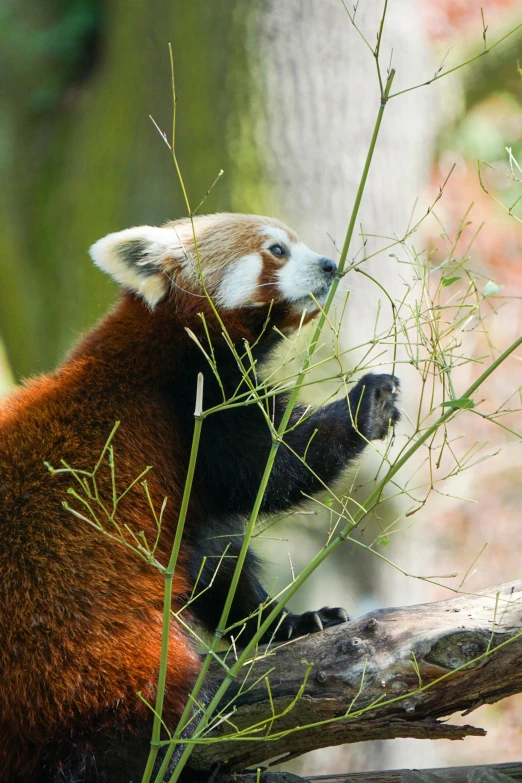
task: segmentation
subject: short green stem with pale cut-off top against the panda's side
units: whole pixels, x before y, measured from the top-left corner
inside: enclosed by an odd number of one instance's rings
[[[156,694],[156,704],[154,709],[154,723],[152,727],[152,738],[150,742],[150,752],[147,759],[147,765],[142,777],[142,783],[149,783],[154,764],[156,763],[156,757],[160,749],[161,739],[161,724],[163,714],[163,701],[165,697],[165,685],[167,681],[167,664],[169,655],[169,639],[170,639],[170,623],[171,623],[171,610],[172,610],[172,582],[176,571],[176,563],[178,562],[179,551],[181,547],[181,540],[183,537],[183,530],[185,528],[185,520],[187,518],[187,510],[190,501],[190,495],[192,492],[192,484],[194,480],[194,472],[196,468],[196,460],[198,456],[199,441],[201,436],[201,427],[203,425],[203,375],[199,373],[198,384],[196,391],[196,406],[194,409],[194,432],[192,435],[192,446],[190,449],[190,458],[187,470],[187,478],[185,481],[185,487],[183,490],[183,498],[181,500],[181,508],[179,512],[178,524],[176,527],[176,535],[174,536],[174,543],[170,553],[169,562],[165,570],[165,590],[163,593],[163,628],[161,634],[161,657],[158,674],[158,689]]]

